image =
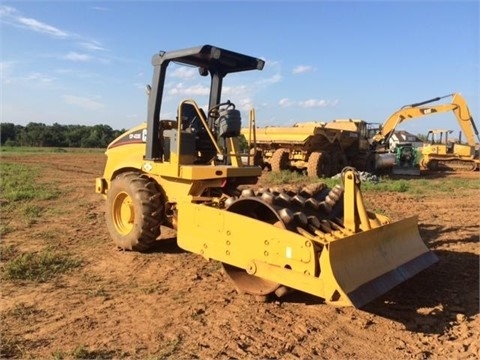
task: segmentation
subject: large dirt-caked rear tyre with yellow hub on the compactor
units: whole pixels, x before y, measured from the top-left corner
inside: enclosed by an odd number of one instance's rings
[[[121,249],[146,251],[160,236],[163,198],[158,186],[138,173],[113,179],[107,193],[106,223]]]

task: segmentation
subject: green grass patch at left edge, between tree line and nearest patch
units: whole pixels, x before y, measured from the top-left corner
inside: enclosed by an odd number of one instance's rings
[[[17,202],[23,200],[51,200],[59,195],[49,184],[36,182],[38,166],[21,164],[0,164],[0,189],[2,200]]]

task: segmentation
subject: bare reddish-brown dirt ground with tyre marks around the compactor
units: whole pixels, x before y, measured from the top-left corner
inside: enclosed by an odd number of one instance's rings
[[[394,219],[418,214],[440,261],[362,309],[335,308],[299,292],[269,302],[239,295],[219,263],[181,250],[171,232],[151,253],[117,250],[94,192],[104,160],[102,153],[2,158],[40,166],[39,181],[62,194],[40,204],[36,223],[14,219],[2,247],[51,247],[82,262],[53,281],[2,280],[2,357],[479,358],[480,188],[365,194],[369,208]]]

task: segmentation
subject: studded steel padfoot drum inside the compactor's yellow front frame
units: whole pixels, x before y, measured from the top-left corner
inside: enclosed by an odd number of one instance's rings
[[[334,230],[342,229],[343,187],[332,189],[323,183],[304,187],[244,189],[238,197],[226,202],[227,211],[267,222],[314,240],[322,247],[322,239]],[[279,283],[250,275],[244,269],[223,263],[225,273],[241,293],[281,297],[289,289]],[[318,269],[319,270],[319,269]]]

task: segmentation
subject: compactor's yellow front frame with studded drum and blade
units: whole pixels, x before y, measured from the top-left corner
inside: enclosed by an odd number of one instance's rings
[[[225,201],[226,211],[178,204],[178,244],[222,262],[239,292],[300,290],[362,307],[438,259],[416,217],[392,222],[366,211],[356,171],[343,178],[332,189],[246,189]]]

